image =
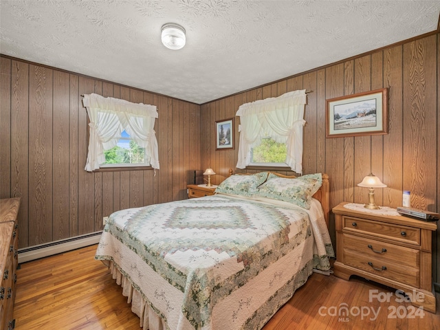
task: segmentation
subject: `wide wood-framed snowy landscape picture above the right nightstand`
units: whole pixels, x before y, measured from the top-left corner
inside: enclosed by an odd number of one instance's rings
[[[388,89],[326,100],[326,137],[388,134]]]

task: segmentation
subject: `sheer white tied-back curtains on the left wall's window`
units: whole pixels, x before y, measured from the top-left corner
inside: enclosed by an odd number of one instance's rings
[[[122,131],[129,133],[139,146],[145,148],[145,156],[150,159],[151,167],[159,168],[154,131],[155,118],[158,115],[154,105],[104,98],[98,94],[86,94],[83,104],[90,120],[85,170],[91,172],[105,162],[104,151],[118,143]]]

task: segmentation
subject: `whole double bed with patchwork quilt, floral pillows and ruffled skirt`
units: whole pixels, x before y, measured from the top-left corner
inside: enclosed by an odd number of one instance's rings
[[[110,215],[95,258],[144,329],[261,329],[329,270],[329,180],[231,175],[213,196]]]

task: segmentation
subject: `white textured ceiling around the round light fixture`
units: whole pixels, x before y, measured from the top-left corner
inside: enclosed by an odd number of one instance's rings
[[[0,52],[201,104],[432,32],[439,14],[439,0],[0,0]],[[160,41],[170,22],[181,50]]]

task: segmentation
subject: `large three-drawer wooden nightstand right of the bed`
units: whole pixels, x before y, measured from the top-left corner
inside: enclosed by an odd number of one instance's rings
[[[348,281],[351,275],[358,275],[399,289],[412,305],[435,313],[432,232],[437,223],[351,210],[345,204],[333,208],[335,276]]]

